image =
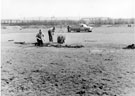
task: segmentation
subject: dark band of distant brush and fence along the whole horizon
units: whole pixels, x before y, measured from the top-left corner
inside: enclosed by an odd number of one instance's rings
[[[82,18],[80,20],[1,20],[1,24],[8,25],[77,25],[78,23],[87,23],[95,25],[103,24],[135,24],[135,19],[102,19],[102,18]]]

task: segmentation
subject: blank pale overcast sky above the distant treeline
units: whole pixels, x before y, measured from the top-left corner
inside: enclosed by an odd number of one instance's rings
[[[2,0],[2,19],[27,17],[135,17],[134,0]]]

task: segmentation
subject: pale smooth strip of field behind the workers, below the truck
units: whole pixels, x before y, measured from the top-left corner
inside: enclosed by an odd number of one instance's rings
[[[39,28],[40,29],[40,28]],[[2,30],[2,41],[8,41],[13,39],[15,41],[26,41],[35,42],[35,35],[38,33],[39,29],[28,28],[9,28]],[[48,42],[47,29],[41,29],[45,35],[45,42]],[[10,35],[9,35],[9,34]],[[135,31],[134,27],[96,27],[93,29],[92,33],[67,33],[66,28],[56,28],[54,41],[59,34],[66,36],[67,43],[86,43],[93,41],[95,43],[121,43],[128,44],[134,43],[135,41]]]

